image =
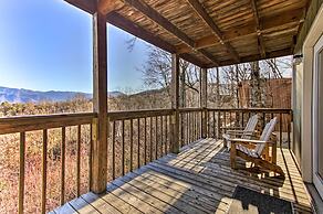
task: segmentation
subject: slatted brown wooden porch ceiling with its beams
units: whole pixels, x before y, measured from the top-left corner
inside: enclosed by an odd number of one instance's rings
[[[293,54],[310,0],[65,0],[204,68]]]

